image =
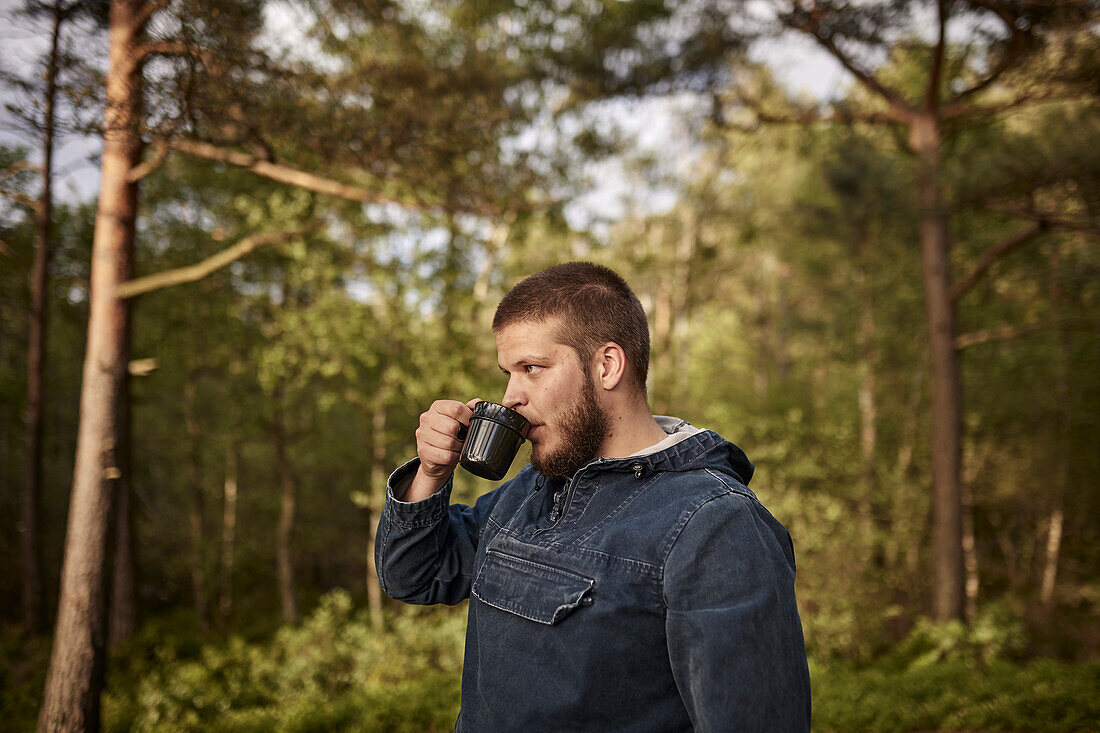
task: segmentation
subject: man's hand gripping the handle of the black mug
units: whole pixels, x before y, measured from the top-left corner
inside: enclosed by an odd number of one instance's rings
[[[474,414],[473,406],[479,402],[481,400],[474,398],[463,405],[455,400],[437,400],[428,412],[421,413],[420,427],[416,430],[416,455],[420,459],[420,468],[405,492],[404,501],[427,499],[451,478],[462,455],[462,439]]]

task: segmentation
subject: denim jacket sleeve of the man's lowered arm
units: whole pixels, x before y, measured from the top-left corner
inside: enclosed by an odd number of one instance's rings
[[[790,535],[756,500],[683,517],[664,569],[666,633],[696,731],[809,731],[810,672]]]

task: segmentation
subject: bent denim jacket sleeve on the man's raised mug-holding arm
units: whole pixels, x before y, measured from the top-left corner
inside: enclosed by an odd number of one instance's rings
[[[398,496],[419,466],[414,458],[386,482],[386,504],[374,540],[378,583],[399,601],[454,605],[470,597],[479,538],[503,486],[473,506],[451,505],[453,483],[448,479],[431,496],[404,502]]]

